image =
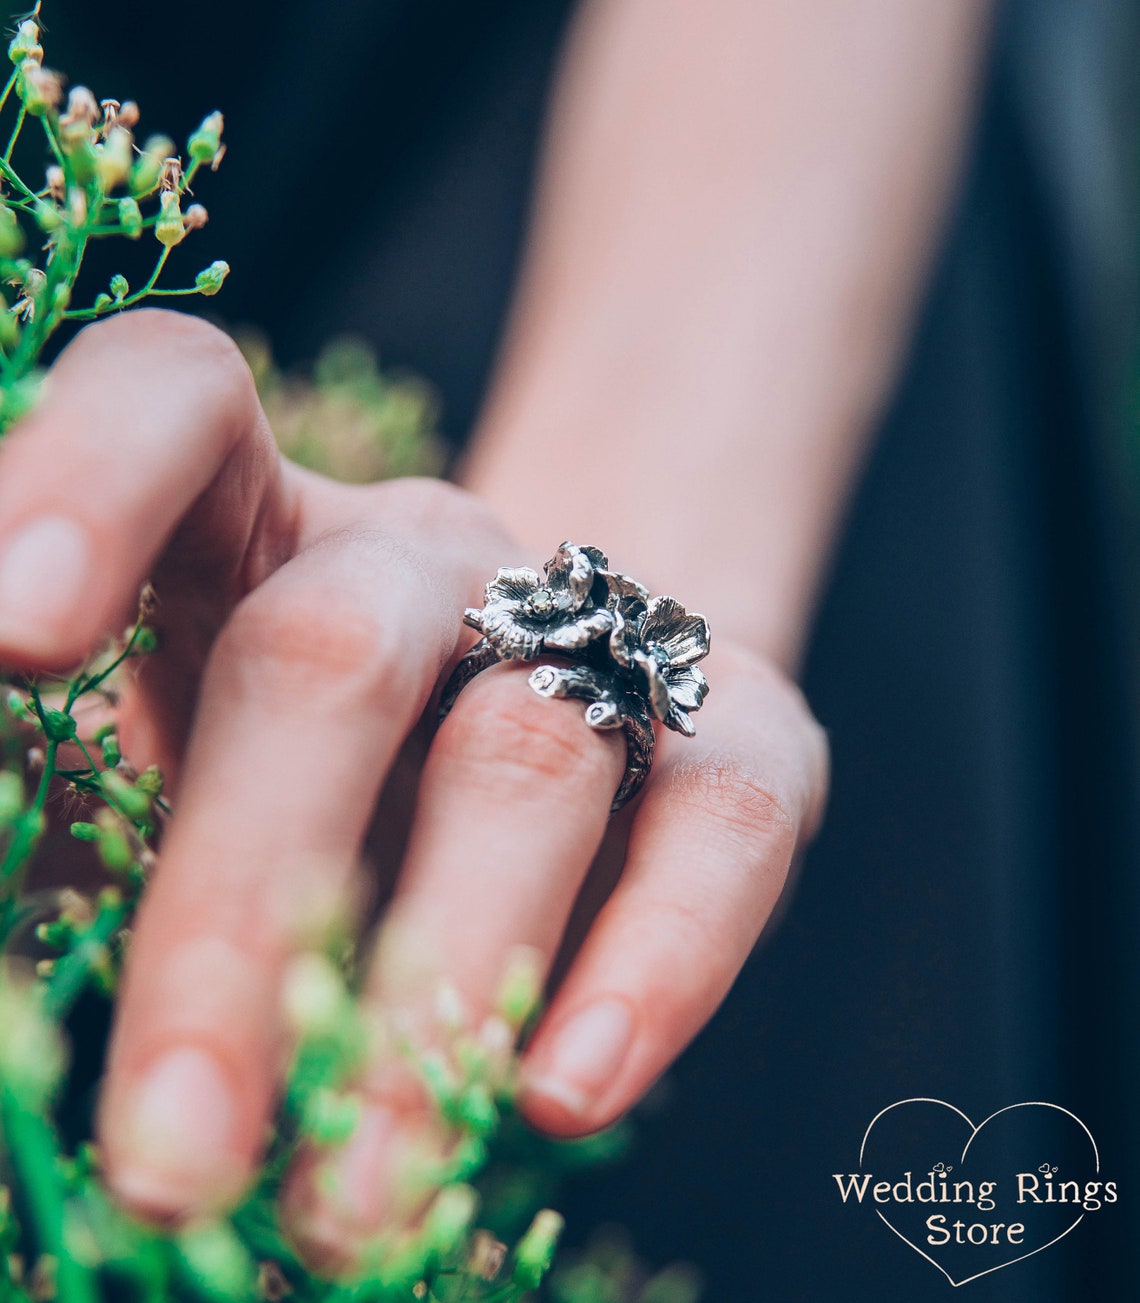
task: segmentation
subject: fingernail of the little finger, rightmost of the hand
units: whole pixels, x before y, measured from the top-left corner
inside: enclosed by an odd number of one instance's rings
[[[577,1117],[601,1098],[618,1075],[633,1041],[633,1010],[616,995],[575,1014],[524,1067],[528,1095],[562,1104]]]

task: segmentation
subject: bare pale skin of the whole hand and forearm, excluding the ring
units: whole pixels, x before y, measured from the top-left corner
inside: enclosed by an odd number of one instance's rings
[[[0,659],[70,666],[149,576],[173,649],[125,708],[176,810],[100,1108],[128,1205],[185,1216],[250,1179],[298,915],[393,839],[377,801],[409,766],[388,917],[422,963],[375,959],[375,1007],[425,1006],[443,976],[481,1016],[512,947],[554,962],[605,840],[620,876],[529,1046],[525,1111],[562,1135],[606,1124],[715,1011],[822,814],[826,740],[791,676],[984,35],[982,0],[588,5],[463,487],[284,463],[245,365],[199,322],[130,314],[64,353],[0,448]],[[517,668],[417,728],[470,644],[464,606],[563,538],[714,631],[696,739],[659,736],[612,823],[620,739]],[[391,1214],[425,1124],[383,1074],[363,1089],[331,1160],[344,1197],[317,1192],[321,1156],[289,1195],[298,1240],[334,1264]]]

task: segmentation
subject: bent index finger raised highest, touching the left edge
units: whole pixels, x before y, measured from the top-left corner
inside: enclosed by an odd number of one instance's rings
[[[146,309],[82,331],[0,443],[0,658],[82,659],[193,507],[186,551],[240,584],[287,516],[253,377],[221,331]]]

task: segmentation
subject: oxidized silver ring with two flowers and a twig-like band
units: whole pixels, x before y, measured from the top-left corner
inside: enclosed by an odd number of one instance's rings
[[[487,584],[483,607],[464,611],[464,623],[482,637],[447,680],[439,718],[489,666],[556,653],[571,663],[539,665],[530,687],[541,697],[588,702],[591,728],[625,731],[616,810],[649,774],[654,719],[687,737],[696,732],[689,715],[709,693],[696,668],[709,654],[709,622],[672,597],[650,597],[644,584],[611,571],[597,547],[565,542],[545,569],[545,579],[529,566],[500,569]]]

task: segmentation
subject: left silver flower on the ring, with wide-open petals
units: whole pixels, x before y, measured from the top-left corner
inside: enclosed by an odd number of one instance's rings
[[[464,623],[487,640],[500,661],[534,661],[542,652],[578,652],[610,633],[615,616],[593,598],[606,571],[597,547],[563,543],[546,563],[546,577],[529,566],[504,567],[487,584],[483,607],[468,607]]]

